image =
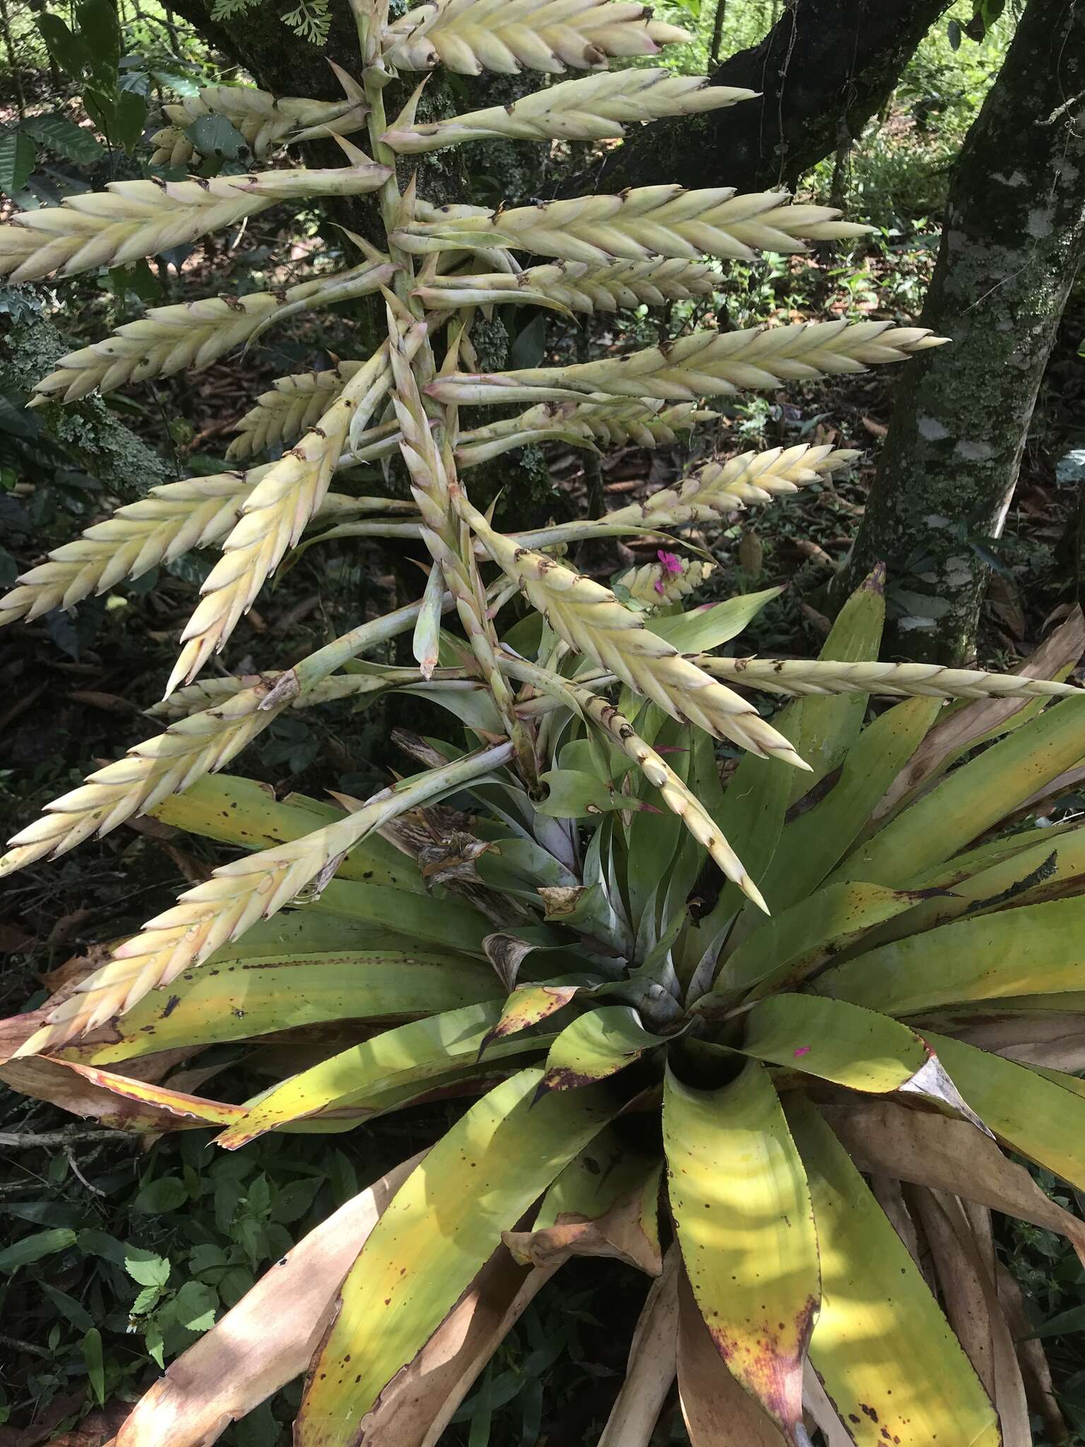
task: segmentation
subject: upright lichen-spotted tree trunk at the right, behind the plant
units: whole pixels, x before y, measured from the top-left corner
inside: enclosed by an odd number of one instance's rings
[[[909,363],[848,587],[890,569],[894,653],[974,655],[1036,394],[1085,256],[1085,9],[1030,0],[950,185],[923,326],[952,339]],[[843,587],[841,589],[843,596]]]

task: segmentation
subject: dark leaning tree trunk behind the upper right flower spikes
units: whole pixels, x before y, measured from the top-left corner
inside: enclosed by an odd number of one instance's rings
[[[760,100],[644,127],[610,152],[599,188],[794,185],[836,150],[842,135],[859,135],[949,4],[788,0],[761,45],[732,55],[712,75],[713,85],[761,91]]]

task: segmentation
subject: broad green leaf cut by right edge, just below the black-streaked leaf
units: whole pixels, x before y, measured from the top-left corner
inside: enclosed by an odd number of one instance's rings
[[[1024,904],[894,939],[826,969],[817,994],[890,1014],[1085,988],[1085,896]]]

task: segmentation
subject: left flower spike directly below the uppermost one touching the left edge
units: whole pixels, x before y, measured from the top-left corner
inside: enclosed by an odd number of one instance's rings
[[[111,392],[117,386],[146,382],[152,376],[172,376],[181,370],[201,372],[262,331],[286,308],[294,313],[365,297],[383,287],[395,271],[392,262],[365,262],[336,276],[304,281],[282,291],[208,297],[174,307],[152,307],[137,321],[126,323],[103,341],[61,357],[56,370],[35,385],[30,407],[46,399],[74,402],[87,392]]]

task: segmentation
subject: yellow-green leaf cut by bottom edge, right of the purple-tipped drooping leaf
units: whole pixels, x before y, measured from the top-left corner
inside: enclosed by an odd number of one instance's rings
[[[858,1447],[998,1447],[994,1408],[907,1247],[816,1108],[788,1097],[822,1262],[810,1360]]]

